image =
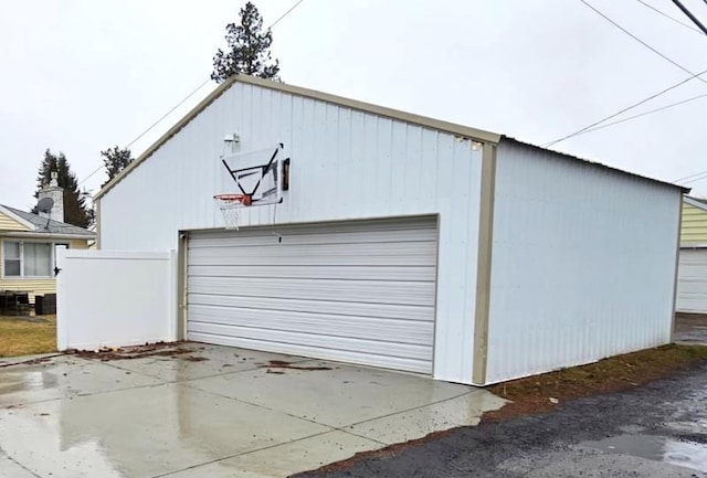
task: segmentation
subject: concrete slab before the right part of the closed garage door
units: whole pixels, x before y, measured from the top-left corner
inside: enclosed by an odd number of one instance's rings
[[[196,380],[189,386],[337,428],[474,390],[412,374],[319,360],[296,365],[330,370],[261,369]]]

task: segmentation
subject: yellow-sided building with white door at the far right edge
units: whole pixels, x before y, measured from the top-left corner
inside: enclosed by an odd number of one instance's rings
[[[683,199],[676,309],[707,314],[707,199]]]

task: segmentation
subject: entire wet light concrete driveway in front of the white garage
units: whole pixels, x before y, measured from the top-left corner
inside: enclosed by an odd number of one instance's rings
[[[225,347],[130,357],[0,363],[0,477],[284,477],[475,425],[503,404],[416,375]]]

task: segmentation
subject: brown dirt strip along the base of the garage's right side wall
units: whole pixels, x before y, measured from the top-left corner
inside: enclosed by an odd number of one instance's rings
[[[705,346],[671,344],[499,383],[488,390],[511,402],[484,414],[482,422],[550,412],[563,402],[633,389],[704,360],[707,360]]]

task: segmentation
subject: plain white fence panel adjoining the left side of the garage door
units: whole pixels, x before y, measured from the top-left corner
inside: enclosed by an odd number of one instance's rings
[[[176,257],[173,251],[61,251],[59,349],[176,340]]]

